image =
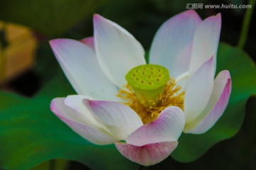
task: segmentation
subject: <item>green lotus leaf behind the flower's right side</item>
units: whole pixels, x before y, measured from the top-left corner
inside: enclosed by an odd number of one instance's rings
[[[247,99],[252,94],[256,94],[255,63],[245,52],[237,47],[220,43],[217,60],[216,73],[228,69],[232,79],[232,93],[228,107],[220,120],[205,134],[181,135],[177,149],[171,154],[171,157],[178,162],[192,162],[216,143],[238,133],[245,115]]]

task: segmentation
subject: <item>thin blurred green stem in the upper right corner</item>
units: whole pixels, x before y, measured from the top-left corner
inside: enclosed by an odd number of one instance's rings
[[[250,0],[249,5],[251,5],[251,8],[247,8],[247,10],[245,11],[245,16],[242,23],[242,31],[240,33],[240,38],[238,41],[238,47],[240,47],[240,49],[243,49],[245,47],[245,42],[247,40],[248,30],[250,26],[250,20],[252,18],[252,12],[255,7],[255,0]]]

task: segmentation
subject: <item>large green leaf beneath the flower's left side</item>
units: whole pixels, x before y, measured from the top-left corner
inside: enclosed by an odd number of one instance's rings
[[[68,94],[75,92],[64,76],[50,81],[34,98],[0,93],[0,167],[26,170],[59,158],[91,169],[137,169],[114,145],[87,142],[51,113],[51,99]]]

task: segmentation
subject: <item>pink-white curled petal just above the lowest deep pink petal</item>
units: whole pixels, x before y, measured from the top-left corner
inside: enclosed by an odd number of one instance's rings
[[[164,109],[159,118],[132,132],[126,142],[141,147],[151,143],[177,141],[184,125],[185,117],[181,108],[171,106]]]

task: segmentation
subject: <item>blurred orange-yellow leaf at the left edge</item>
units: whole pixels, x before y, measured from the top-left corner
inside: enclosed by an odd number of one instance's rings
[[[0,21],[0,30],[8,42],[6,47],[0,47],[0,83],[3,84],[33,66],[38,43],[33,32],[24,26]]]

